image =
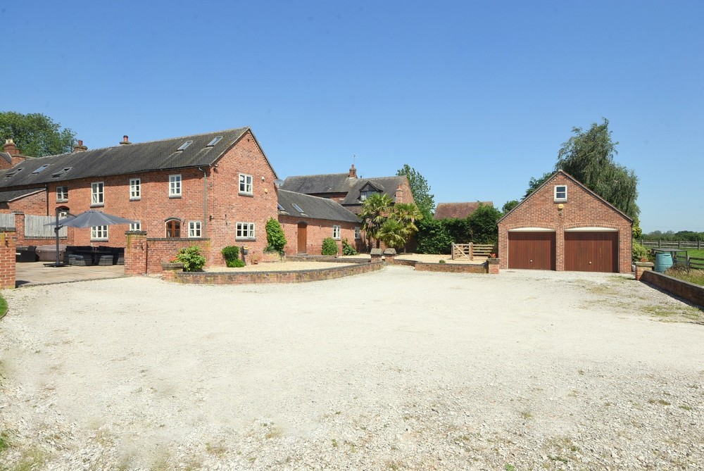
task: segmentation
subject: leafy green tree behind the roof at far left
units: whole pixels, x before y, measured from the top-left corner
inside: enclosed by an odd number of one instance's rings
[[[0,137],[13,139],[25,156],[54,156],[73,150],[76,134],[42,113],[0,111]]]

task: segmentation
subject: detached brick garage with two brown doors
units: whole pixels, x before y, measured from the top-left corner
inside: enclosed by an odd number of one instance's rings
[[[629,273],[632,225],[559,170],[498,221],[501,268]]]

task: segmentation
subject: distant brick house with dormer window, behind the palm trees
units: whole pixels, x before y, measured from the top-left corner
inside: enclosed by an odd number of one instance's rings
[[[389,195],[394,203],[415,203],[406,175],[360,178],[354,164],[348,173],[287,177],[281,189],[332,199],[355,214],[374,193]]]

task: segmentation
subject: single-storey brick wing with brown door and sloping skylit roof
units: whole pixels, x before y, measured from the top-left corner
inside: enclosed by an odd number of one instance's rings
[[[289,255],[306,253],[320,255],[322,241],[332,237],[342,253],[342,241],[352,246],[361,238],[361,223],[357,215],[336,201],[279,188],[279,223],[287,240]]]

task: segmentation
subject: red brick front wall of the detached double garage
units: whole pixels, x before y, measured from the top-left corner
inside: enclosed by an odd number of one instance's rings
[[[555,185],[567,185],[567,201],[558,210],[554,201]],[[619,271],[631,272],[631,221],[610,204],[582,188],[565,173],[558,172],[541,189],[517,206],[498,224],[498,255],[501,268],[508,268],[508,230],[541,227],[555,231],[555,268],[565,270],[565,230],[578,227],[603,227],[619,231]]]

